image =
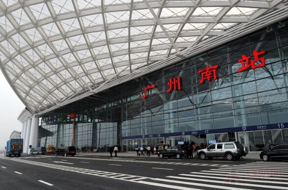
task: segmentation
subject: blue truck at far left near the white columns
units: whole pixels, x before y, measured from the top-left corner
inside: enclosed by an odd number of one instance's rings
[[[9,139],[6,146],[6,156],[21,156],[23,152],[23,139]]]

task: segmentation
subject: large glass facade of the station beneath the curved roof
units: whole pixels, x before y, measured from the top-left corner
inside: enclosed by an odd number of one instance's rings
[[[239,72],[248,64],[239,61],[245,56],[256,68],[251,64]],[[199,73],[216,65],[215,75]],[[133,150],[135,144],[202,141],[203,133],[205,141],[238,140],[252,151],[287,143],[287,73],[288,21],[283,21],[42,116],[40,143]],[[77,117],[70,119],[70,113]],[[244,128],[249,126],[259,130]]]

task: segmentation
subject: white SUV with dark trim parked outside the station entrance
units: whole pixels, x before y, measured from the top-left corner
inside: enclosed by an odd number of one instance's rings
[[[241,156],[248,154],[248,148],[240,142],[217,142],[210,144],[207,148],[198,151],[198,156],[204,160],[214,157],[223,157],[227,160],[239,160]]]

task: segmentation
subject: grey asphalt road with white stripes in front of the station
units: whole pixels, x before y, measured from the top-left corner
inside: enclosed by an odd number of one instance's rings
[[[288,190],[287,164],[259,159],[0,155],[0,189]]]

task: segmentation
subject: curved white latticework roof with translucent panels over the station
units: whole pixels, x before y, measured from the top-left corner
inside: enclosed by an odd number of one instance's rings
[[[0,0],[0,69],[27,108],[44,113],[161,60],[177,61],[207,39],[286,6],[286,0]]]

